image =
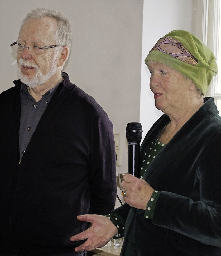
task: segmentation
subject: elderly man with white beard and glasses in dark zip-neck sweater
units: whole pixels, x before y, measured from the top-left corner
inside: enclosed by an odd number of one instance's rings
[[[82,214],[107,214],[116,200],[113,125],[62,72],[69,20],[37,8],[11,46],[19,80],[0,94],[0,255],[74,252]]]

